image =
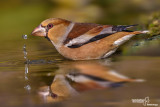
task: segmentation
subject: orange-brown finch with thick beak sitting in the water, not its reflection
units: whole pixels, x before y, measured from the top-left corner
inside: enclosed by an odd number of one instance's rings
[[[133,26],[136,25],[102,25],[49,18],[31,35],[47,38],[67,59],[92,60],[107,58],[134,35],[148,33],[147,30],[128,30]]]

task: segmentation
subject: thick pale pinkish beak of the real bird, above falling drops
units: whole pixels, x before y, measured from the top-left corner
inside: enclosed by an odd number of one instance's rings
[[[41,25],[39,25],[38,27],[36,27],[32,33],[33,36],[46,36],[46,29],[44,27],[42,27]]]

